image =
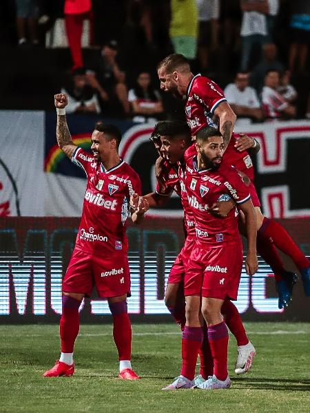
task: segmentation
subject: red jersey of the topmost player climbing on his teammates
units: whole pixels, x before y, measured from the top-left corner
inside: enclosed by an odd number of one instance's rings
[[[204,126],[218,127],[214,110],[226,101],[223,90],[214,81],[200,74],[192,78],[187,87],[185,116],[193,136]]]

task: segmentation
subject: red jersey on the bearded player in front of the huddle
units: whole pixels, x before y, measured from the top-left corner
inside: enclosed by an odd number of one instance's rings
[[[242,204],[251,199],[249,188],[245,186],[236,168],[220,165],[217,170],[197,171],[194,156],[187,162],[185,187],[196,222],[198,246],[206,248],[239,240],[236,209],[231,209],[225,218],[217,218],[208,213],[214,202],[231,198],[236,204]]]

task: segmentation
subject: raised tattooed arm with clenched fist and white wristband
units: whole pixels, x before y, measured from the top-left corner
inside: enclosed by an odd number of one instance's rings
[[[54,95],[54,103],[56,109],[65,109],[68,105],[68,96],[63,93]],[[76,145],[72,142],[71,134],[67,125],[67,119],[64,114],[59,114],[57,111],[57,125],[56,125],[56,138],[60,149],[68,156],[72,158]]]

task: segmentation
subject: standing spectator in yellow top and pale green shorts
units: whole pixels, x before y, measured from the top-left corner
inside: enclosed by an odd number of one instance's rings
[[[198,9],[196,0],[171,0],[170,39],[174,52],[196,59]]]

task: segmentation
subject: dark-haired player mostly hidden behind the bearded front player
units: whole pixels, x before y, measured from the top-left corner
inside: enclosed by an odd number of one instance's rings
[[[161,140],[161,144],[158,139]],[[183,331],[185,327],[184,277],[187,262],[196,240],[195,220],[189,208],[187,193],[185,191],[185,174],[183,173],[185,167],[185,152],[188,156],[189,151],[187,149],[192,145],[190,129],[187,124],[182,121],[162,121],[156,125],[151,140],[154,142],[158,153],[160,153],[164,159],[161,165],[161,180],[157,184],[156,191],[144,195],[144,198],[149,201],[150,207],[160,207],[165,204],[169,195],[172,195],[172,192],[176,191],[176,193],[180,195],[184,209],[185,245],[176,257],[171,268],[165,291],[165,304]],[[196,153],[196,149],[194,149],[193,146],[192,152],[193,154]],[[232,201],[223,201],[215,202],[214,205],[217,209],[220,209],[223,215],[227,215],[235,203]],[[218,214],[214,211],[214,208],[209,211],[216,213],[216,215]],[[251,363],[256,354],[255,348],[247,337],[236,306],[227,299],[221,308],[221,312],[229,330],[236,337],[238,344],[236,373],[243,374],[251,368]],[[242,354],[240,354],[240,349],[242,350]],[[194,384],[196,385],[202,383],[209,375],[213,374],[213,359],[209,349],[209,341],[206,336],[199,350],[199,354],[200,372],[198,376],[194,378]]]

